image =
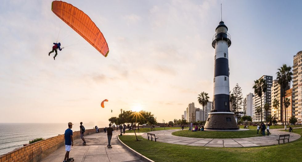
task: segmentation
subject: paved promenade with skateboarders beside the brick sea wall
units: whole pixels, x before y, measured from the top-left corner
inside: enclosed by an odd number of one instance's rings
[[[83,146],[82,139],[76,139],[71,147],[69,157],[74,157],[75,162],[142,162],[139,157],[130,153],[117,140],[116,132],[111,139],[112,148],[108,149],[107,133],[94,133],[84,136],[87,145]],[[41,162],[63,162],[65,145],[48,155]]]

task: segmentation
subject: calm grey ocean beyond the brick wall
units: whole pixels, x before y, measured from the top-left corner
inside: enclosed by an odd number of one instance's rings
[[[73,124],[72,130],[79,131],[80,123]],[[85,129],[92,129],[95,125],[99,128],[108,125],[107,122],[97,124],[83,123]],[[35,138],[49,138],[64,134],[67,128],[67,123],[0,123],[0,155],[28,144]]]

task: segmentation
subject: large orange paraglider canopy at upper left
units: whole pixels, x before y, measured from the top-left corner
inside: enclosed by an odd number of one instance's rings
[[[90,17],[75,6],[62,1],[53,1],[51,11],[88,41],[105,57],[109,53],[103,33]]]

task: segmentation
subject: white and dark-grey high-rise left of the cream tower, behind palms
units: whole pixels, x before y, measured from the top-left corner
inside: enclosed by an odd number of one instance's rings
[[[254,94],[255,97],[253,98],[253,122],[265,122],[266,121],[266,114],[267,115],[271,115],[271,109],[269,109],[267,111],[267,113],[265,113],[264,110],[264,105],[266,103],[268,103],[271,106],[271,87],[273,84],[273,77],[269,76],[269,75],[263,75],[261,78],[259,79],[264,79],[265,83],[267,84],[267,89],[266,91],[263,93],[262,92],[262,101],[261,98],[257,95]],[[260,106],[261,107],[261,102],[262,102],[262,120],[261,120],[261,111],[260,113],[257,113],[256,109]]]

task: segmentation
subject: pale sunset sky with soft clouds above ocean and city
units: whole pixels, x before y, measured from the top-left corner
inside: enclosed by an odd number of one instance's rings
[[[52,1],[1,1],[0,122],[108,122],[120,109],[180,119],[213,98],[219,21],[228,27],[230,89],[292,65],[302,50],[302,1],[70,1],[99,27],[105,58],[51,11]],[[48,56],[61,42],[56,60]],[[105,108],[100,107],[101,101]],[[112,113],[111,113],[112,110]]]

